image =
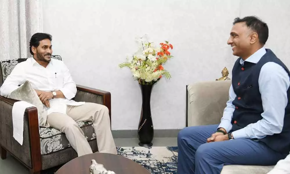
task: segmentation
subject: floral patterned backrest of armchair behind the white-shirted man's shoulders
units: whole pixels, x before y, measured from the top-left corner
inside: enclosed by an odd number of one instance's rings
[[[51,58],[61,60],[61,56],[59,55],[52,55]],[[12,72],[12,70],[18,63],[26,61],[26,59],[27,58],[1,61],[0,63],[1,63],[3,81],[5,81],[5,79],[8,77],[8,75]]]

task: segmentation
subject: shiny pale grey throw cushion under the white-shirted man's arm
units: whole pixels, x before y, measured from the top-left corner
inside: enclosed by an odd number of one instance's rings
[[[36,91],[32,89],[30,82],[26,81],[22,86],[12,91],[7,98],[25,101],[33,104],[37,108],[39,126],[45,126],[47,112],[44,108],[44,104],[40,101]]]

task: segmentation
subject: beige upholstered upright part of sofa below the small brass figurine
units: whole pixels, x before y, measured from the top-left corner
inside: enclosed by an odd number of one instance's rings
[[[186,126],[219,124],[229,100],[231,81],[206,81],[187,86]]]

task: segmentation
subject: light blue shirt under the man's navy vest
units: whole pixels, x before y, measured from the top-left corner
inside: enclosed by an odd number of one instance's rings
[[[251,55],[245,61],[255,63],[266,53],[265,48],[261,48]],[[244,60],[240,59],[240,64],[244,64]],[[284,123],[285,107],[288,102],[287,90],[290,85],[289,75],[282,66],[274,62],[267,62],[261,68],[259,75],[259,90],[262,98],[262,106],[264,112],[263,117],[256,123],[234,131],[233,137],[237,138],[258,138],[261,139],[266,135],[281,133]],[[236,94],[231,85],[229,90],[229,101],[226,102],[226,108],[218,127],[224,128],[227,132],[232,129],[231,120],[235,106],[233,100]]]

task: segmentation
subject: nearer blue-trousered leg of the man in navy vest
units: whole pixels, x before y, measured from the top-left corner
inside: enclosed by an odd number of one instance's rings
[[[202,144],[195,154],[195,173],[218,174],[222,167],[237,165],[275,165],[287,154],[273,151],[263,142],[233,139]]]

